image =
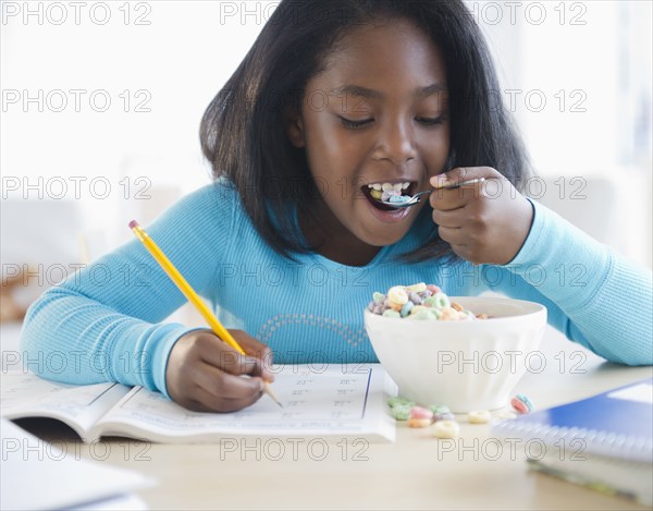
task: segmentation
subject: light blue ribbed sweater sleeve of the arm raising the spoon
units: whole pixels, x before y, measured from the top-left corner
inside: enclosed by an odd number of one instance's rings
[[[541,204],[533,208],[502,291],[543,303],[553,326],[611,362],[653,364],[651,271]]]

